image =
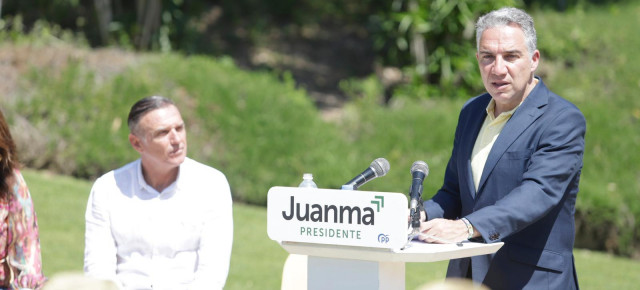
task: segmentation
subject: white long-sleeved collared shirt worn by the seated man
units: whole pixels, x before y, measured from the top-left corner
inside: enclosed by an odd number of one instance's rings
[[[229,183],[186,158],[176,182],[149,186],[140,160],[96,180],[86,212],[84,271],[124,289],[222,289],[233,243]]]

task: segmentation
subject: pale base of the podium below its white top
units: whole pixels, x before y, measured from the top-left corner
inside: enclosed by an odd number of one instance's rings
[[[307,289],[404,289],[404,262],[309,256]]]

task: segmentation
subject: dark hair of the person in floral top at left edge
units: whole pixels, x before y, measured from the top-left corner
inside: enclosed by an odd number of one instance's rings
[[[4,199],[10,195],[9,188],[15,181],[13,170],[19,166],[16,144],[11,137],[9,125],[0,111],[0,198]]]

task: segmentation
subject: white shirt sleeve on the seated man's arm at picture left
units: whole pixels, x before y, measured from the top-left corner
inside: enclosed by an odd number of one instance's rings
[[[108,188],[98,179],[91,189],[85,214],[84,272],[87,276],[117,281],[116,246],[111,234]]]

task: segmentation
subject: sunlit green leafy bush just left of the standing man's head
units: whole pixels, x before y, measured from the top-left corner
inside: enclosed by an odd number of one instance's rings
[[[388,65],[406,67],[414,86],[441,94],[479,89],[475,66],[475,20],[513,0],[395,0],[376,17],[376,46]]]

